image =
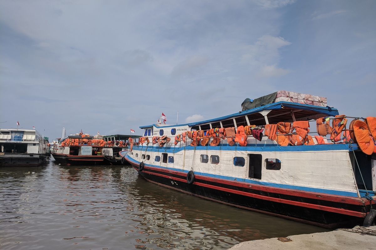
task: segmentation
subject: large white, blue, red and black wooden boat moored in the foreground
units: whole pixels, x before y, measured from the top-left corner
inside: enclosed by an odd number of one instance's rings
[[[374,223],[376,150],[363,118],[288,91],[246,99],[242,108],[141,126],[146,136],[130,142],[124,158],[152,183],[211,201],[327,228]],[[347,119],[359,122],[346,126]]]

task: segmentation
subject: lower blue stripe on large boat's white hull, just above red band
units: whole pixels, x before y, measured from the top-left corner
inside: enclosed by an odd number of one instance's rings
[[[129,159],[130,161],[132,161],[133,163],[136,163],[136,164],[140,163],[139,161],[132,159],[129,155],[127,155],[126,158]],[[173,163],[169,163],[169,164],[173,164]],[[168,167],[162,167],[162,166],[157,166],[157,165],[152,165],[152,164],[145,164],[145,166],[151,166],[151,167],[160,168],[160,169],[168,169],[168,170],[171,170],[171,171],[177,171],[177,172],[183,172],[183,173],[189,172],[188,170],[177,169],[177,168],[168,168]],[[239,181],[239,182],[245,182],[245,183],[250,183],[250,184],[257,184],[257,185],[267,186],[267,187],[300,190],[300,191],[312,192],[312,193],[325,193],[325,194],[329,194],[329,195],[338,195],[338,196],[347,196],[347,197],[358,197],[357,193],[347,192],[347,191],[319,189],[319,188],[313,188],[313,187],[293,186],[293,185],[288,185],[288,184],[269,183],[269,182],[263,182],[263,181],[250,180],[250,179],[246,179],[246,178],[236,178],[236,177],[230,177],[230,176],[224,176],[224,175],[207,174],[207,173],[202,173],[202,172],[197,172],[197,171],[194,171],[194,174],[195,175],[202,175],[202,176],[206,176],[206,177],[217,178],[217,179],[222,179],[222,180],[228,180],[228,181]]]

